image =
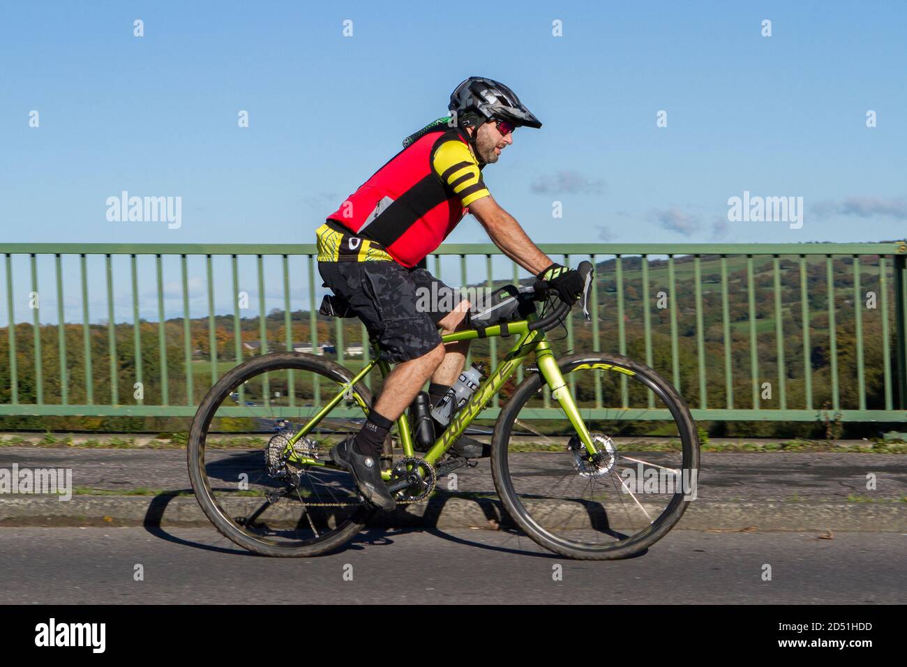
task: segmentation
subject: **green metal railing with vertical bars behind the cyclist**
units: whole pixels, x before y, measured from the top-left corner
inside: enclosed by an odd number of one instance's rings
[[[576,265],[580,260],[589,258],[593,262],[613,260],[604,270],[599,270],[598,280],[593,285],[593,302],[591,304],[592,321],[569,319],[566,332],[566,348],[573,348],[580,327],[583,336],[588,334],[589,348],[600,351],[613,351],[627,354],[649,366],[657,368],[665,375],[681,395],[687,398],[693,416],[698,420],[763,420],[763,421],[813,421],[823,415],[834,414],[842,421],[907,421],[907,244],[892,243],[809,243],[809,244],[542,244],[541,249],[561,260],[567,265]],[[268,345],[274,348],[285,346],[292,348],[291,312],[291,267],[301,270],[307,279],[308,299],[304,305],[296,304],[298,309],[307,309],[308,337],[313,348],[317,348],[317,291],[320,280],[317,274],[316,248],[314,244],[203,244],[203,245],[119,245],[119,244],[66,244],[66,243],[9,243],[0,245],[0,255],[5,256],[5,291],[7,299],[7,321],[15,321],[16,309],[22,309],[24,299],[33,299],[39,295],[38,258],[53,258],[54,283],[56,297],[56,315],[58,322],[64,322],[64,258],[78,260],[81,287],[82,310],[82,351],[79,363],[83,368],[84,387],[79,394],[84,396],[78,404],[70,401],[70,376],[73,348],[72,340],[67,344],[69,327],[57,327],[57,360],[59,364],[59,401],[45,400],[45,386],[50,378],[46,377],[42,350],[47,348],[47,341],[42,339],[42,329],[46,323],[41,322],[40,300],[32,304],[32,373],[24,378],[22,368],[17,364],[17,354],[24,341],[17,338],[16,328],[8,326],[8,359],[0,358],[0,373],[9,378],[9,400],[0,404],[0,415],[79,415],[79,416],[156,416],[156,417],[190,417],[196,409],[196,395],[203,392],[210,383],[219,377],[217,357],[216,326],[218,316],[215,313],[215,290],[232,289],[234,297],[239,294],[240,258],[251,258],[256,262],[258,287],[258,338],[261,341],[259,353]],[[459,261],[459,280],[462,285],[469,284],[467,266],[469,258],[484,257],[483,280],[489,287],[494,282],[501,282],[499,275],[493,280],[493,258],[500,255],[492,244],[444,245],[434,253],[434,265],[430,266],[434,274],[444,279],[442,268],[444,258]],[[99,312],[91,312],[89,299],[88,263],[90,257],[97,256],[103,260],[104,282],[106,284],[106,363],[109,365],[110,395],[107,403],[99,402],[96,390],[96,379],[102,381],[93,372],[96,359],[93,359],[92,330],[102,325],[91,324],[90,318],[97,318]],[[122,339],[116,336],[117,325],[114,323],[114,284],[131,284],[132,298],[132,363],[133,377],[136,383],[143,383],[143,359],[141,336],[147,336],[147,327],[141,332],[140,318],[140,282],[137,258],[150,256],[154,262],[155,291],[157,295],[157,350],[158,377],[150,378],[157,387],[160,400],[149,404],[142,397],[132,401],[121,401],[120,378],[122,362],[118,360],[117,347]],[[217,276],[213,260],[224,257],[229,260],[230,276]],[[268,341],[266,312],[265,259],[277,258],[282,274],[282,305],[284,316],[285,340]],[[19,259],[17,259],[19,258]],[[113,261],[121,258],[129,261],[129,283],[114,280]],[[208,306],[208,343],[210,348],[210,377],[200,378],[192,370],[192,337],[190,321],[190,276],[188,260],[200,258],[205,264],[205,297]],[[665,259],[661,259],[665,258]],[[163,260],[179,261],[180,275],[166,276]],[[24,274],[15,273],[14,261],[27,261],[30,266],[29,279]],[[449,263],[449,262],[448,262]],[[703,267],[715,272],[705,278]],[[737,268],[736,273],[730,270]],[[474,267],[473,267],[474,273]],[[510,273],[510,271],[508,271]],[[824,273],[824,289],[817,294],[811,289],[810,276],[815,279]],[[792,278],[796,275],[796,279]],[[512,265],[512,275],[507,280],[520,280],[521,273]],[[736,276],[736,278],[735,278]],[[867,278],[868,276],[868,278]],[[684,278],[686,277],[686,278]],[[448,282],[449,280],[448,276]],[[528,274],[523,278],[529,278]],[[171,359],[167,355],[166,321],[165,321],[165,280],[181,287],[182,299],[182,373],[173,377],[168,369]],[[46,279],[42,279],[42,284]],[[678,280],[691,283],[692,299],[681,303],[678,292]],[[865,280],[865,282],[864,282]],[[473,275],[473,283],[479,282]],[[761,284],[760,284],[761,282]],[[30,284],[28,284],[30,283]],[[844,298],[837,297],[838,289],[849,289],[850,294]],[[27,284],[30,289],[23,289]],[[612,285],[613,295],[605,295],[602,289]],[[704,286],[712,286],[704,289]],[[844,285],[844,288],[840,286]],[[867,294],[864,289],[872,287],[878,299],[878,306],[867,309],[864,302]],[[71,289],[70,284],[66,285]],[[770,298],[766,297],[771,292]],[[788,295],[799,297],[799,309],[785,306],[785,290]],[[741,293],[745,291],[745,298]],[[841,294],[846,295],[846,292]],[[757,299],[757,296],[760,299]],[[731,309],[732,298],[740,297],[741,309],[746,319],[732,321],[734,312]],[[761,297],[766,297],[762,299]],[[836,300],[837,299],[837,300]],[[237,299],[234,300],[232,315],[232,336],[235,358],[243,355],[240,338],[240,312]],[[298,299],[297,299],[298,300]],[[823,303],[824,309],[816,307]],[[763,317],[760,317],[758,305],[762,305]],[[766,305],[767,304],[767,305]],[[122,303],[117,304],[121,308]],[[97,310],[97,309],[95,309]],[[632,312],[630,312],[632,310]],[[797,314],[795,311],[799,310]],[[711,326],[707,320],[720,321]],[[844,325],[839,325],[838,316]],[[799,325],[795,321],[799,317]],[[821,352],[827,358],[827,387],[824,383],[825,369],[822,370],[823,383],[816,384],[816,370],[813,357],[816,353],[815,340],[818,337],[813,326],[815,319],[827,319],[827,334],[823,334]],[[891,319],[894,319],[893,329]],[[21,317],[20,317],[21,320]],[[167,321],[172,321],[173,318]],[[613,321],[612,321],[613,320]],[[653,321],[655,320],[655,321]],[[772,321],[774,320],[774,321]],[[144,320],[148,322],[148,320]],[[641,327],[637,326],[641,322]],[[810,323],[810,326],[804,326]],[[19,329],[22,330],[20,323]],[[344,344],[344,323],[337,319],[334,326],[334,345],[336,358],[343,363],[346,359]],[[357,325],[361,326],[361,325]],[[846,335],[851,336],[853,327],[853,348],[839,348],[839,336],[844,326]],[[867,335],[866,327],[871,326],[872,335]],[[347,325],[348,327],[348,325]],[[681,335],[681,328],[684,329]],[[629,329],[632,329],[631,331]],[[668,333],[665,334],[664,330]],[[692,329],[692,333],[690,333]],[[346,329],[347,332],[350,329]],[[629,334],[632,334],[631,336]],[[736,338],[734,336],[736,334]],[[661,348],[655,344],[655,338],[664,341],[667,336],[669,344],[664,345],[668,358],[660,353]],[[765,345],[772,337],[771,344]],[[367,340],[364,327],[361,327],[362,341]],[[850,338],[847,338],[848,340]],[[735,342],[737,348],[735,348]],[[760,342],[762,345],[760,346]],[[498,354],[498,343],[492,338],[488,341],[490,358],[495,362]],[[741,351],[740,346],[746,346]],[[579,346],[578,346],[579,347]],[[632,348],[632,349],[630,349]],[[144,348],[148,353],[147,347]],[[867,354],[872,352],[867,361]],[[658,353],[658,358],[656,358]],[[893,353],[893,354],[892,354]],[[363,345],[363,355],[367,361],[369,349]],[[853,373],[847,370],[845,377],[840,368],[842,358],[853,357]],[[695,363],[687,363],[695,358]],[[735,368],[735,358],[748,361],[748,369]],[[799,375],[792,369],[792,358],[799,358]],[[3,365],[8,361],[8,368]],[[74,362],[73,362],[74,363]],[[681,365],[684,364],[684,368]],[[719,368],[720,367],[720,368]],[[881,368],[880,368],[881,367]],[[709,382],[708,370],[713,372],[713,381]],[[849,368],[849,367],[848,367]],[[748,371],[748,373],[747,373]],[[714,381],[715,373],[723,382]],[[194,376],[194,377],[193,377]],[[746,378],[748,376],[748,379]],[[770,397],[764,397],[766,378]],[[27,379],[27,383],[25,380]],[[522,380],[522,370],[518,380]],[[843,402],[842,383],[850,398]],[[179,405],[171,401],[171,387],[174,383],[185,387],[185,400]],[[746,384],[749,391],[746,391]],[[20,400],[24,384],[32,387],[30,392],[34,401]],[[723,387],[717,385],[723,384]],[[796,385],[796,400],[791,386]],[[290,387],[293,387],[292,383]],[[737,391],[735,391],[735,387]],[[817,387],[823,395],[827,393],[827,404],[818,405]],[[855,391],[853,391],[855,387]],[[292,390],[292,389],[291,389]],[[242,388],[239,388],[241,393]],[[266,387],[267,391],[267,387]],[[314,391],[319,391],[317,385]],[[743,393],[740,393],[740,392]],[[106,391],[104,392],[106,393]],[[746,396],[746,393],[749,396]],[[855,396],[855,398],[854,398]],[[873,397],[872,401],[870,397]],[[317,399],[317,396],[316,396]],[[595,407],[602,407],[600,386],[595,387]],[[610,400],[617,400],[611,398]],[[649,396],[649,407],[652,397]],[[622,378],[619,402],[622,407],[629,406],[626,378]],[[873,405],[870,405],[870,402]],[[550,396],[544,392],[544,406],[551,407]],[[636,407],[636,406],[634,406]],[[483,417],[494,417],[500,409],[497,398]],[[542,416],[554,417],[559,414],[557,408],[551,413],[542,411]]]

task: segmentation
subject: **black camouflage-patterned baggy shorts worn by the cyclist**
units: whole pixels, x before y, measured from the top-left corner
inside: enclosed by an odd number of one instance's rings
[[[379,357],[392,364],[437,348],[438,322],[460,302],[427,270],[395,261],[319,261],[318,272],[381,344]]]

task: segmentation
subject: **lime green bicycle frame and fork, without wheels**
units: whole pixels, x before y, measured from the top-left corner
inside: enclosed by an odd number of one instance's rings
[[[508,323],[507,328],[510,333],[518,336],[513,347],[502,359],[498,367],[494,369],[493,374],[482,382],[479,388],[473,393],[469,402],[453,417],[453,420],[444,433],[434,441],[434,446],[432,446],[428,452],[424,453],[421,458],[434,466],[453,445],[456,439],[463,435],[463,431],[466,427],[469,427],[473,422],[473,419],[482,412],[492,397],[501,390],[501,387],[503,387],[504,383],[511,378],[516,369],[522,366],[531,352],[535,352],[536,364],[541,373],[541,377],[544,378],[548,386],[551,387],[551,397],[554,397],[561,405],[561,409],[563,409],[564,414],[576,429],[582,444],[586,447],[586,450],[590,455],[595,455],[597,453],[597,450],[592,443],[589,429],[586,427],[586,423],[583,421],[582,417],[580,417],[580,410],[573,400],[573,396],[561,374],[561,368],[558,366],[557,359],[554,358],[554,354],[551,351],[551,343],[548,342],[543,331],[531,331],[529,329],[530,323],[536,319],[536,317],[531,315],[529,319]],[[485,329],[486,338],[493,336],[501,336],[500,325]],[[455,331],[441,337],[444,343],[453,343],[460,340],[473,340],[475,338],[479,338],[479,332],[475,329]],[[356,400],[356,403],[358,403],[360,407],[366,410],[366,412],[368,411],[366,402],[356,392],[356,383],[362,378],[365,378],[375,366],[381,369],[381,374],[385,378],[388,373],[390,373],[390,364],[384,359],[378,358],[377,353],[380,352],[380,348],[377,344],[375,344],[374,349],[375,357],[372,358],[372,360],[369,361],[353,379],[342,385],[341,390],[336,396],[331,398],[327,402],[327,405],[319,410],[317,415],[312,417],[306,426],[299,429],[299,431],[290,438],[287,449],[285,450],[288,452],[290,460],[300,465],[337,467],[333,463],[327,461],[321,461],[306,456],[295,456],[292,447],[300,437],[306,436],[317,426],[318,422],[327,417],[328,413],[330,413],[344,397]],[[396,425],[400,436],[400,443],[403,446],[404,456],[414,456],[413,434],[409,427],[409,419],[406,412],[397,419]],[[383,471],[382,475],[385,476],[385,479],[390,478],[389,471]]]

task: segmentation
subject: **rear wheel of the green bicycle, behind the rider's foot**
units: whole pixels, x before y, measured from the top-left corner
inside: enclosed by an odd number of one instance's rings
[[[220,533],[257,554],[314,556],[346,544],[375,511],[346,471],[287,460],[295,434],[353,378],[327,359],[279,352],[249,359],[201,402],[189,438],[189,475]],[[358,432],[372,395],[357,384],[294,450],[321,461]]]

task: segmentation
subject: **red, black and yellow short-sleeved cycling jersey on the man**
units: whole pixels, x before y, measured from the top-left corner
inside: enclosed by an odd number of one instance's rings
[[[473,201],[488,195],[468,137],[442,124],[398,152],[327,216],[352,238],[374,241],[373,251],[339,252],[342,243],[323,241],[330,230],[322,225],[318,259],[380,260],[386,254],[414,267],[441,245]]]

